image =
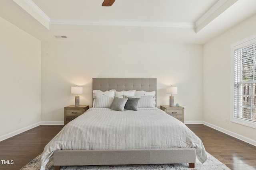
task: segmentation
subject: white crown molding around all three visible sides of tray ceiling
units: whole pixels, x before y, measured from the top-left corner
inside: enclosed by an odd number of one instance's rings
[[[218,8],[225,4],[228,0],[218,0],[196,23],[177,23],[177,22],[154,22],[154,21],[100,21],[100,20],[64,20],[51,19],[47,16],[32,0],[13,0],[26,12],[32,15],[42,25],[50,29],[50,24],[62,25],[106,25],[106,26],[135,26],[135,27],[173,27],[173,28],[197,28],[209,16],[211,16]],[[28,8],[28,6],[30,8]]]

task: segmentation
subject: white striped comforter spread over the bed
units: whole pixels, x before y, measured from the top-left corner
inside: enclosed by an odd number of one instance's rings
[[[54,150],[160,148],[195,148],[200,162],[207,159],[202,141],[186,125],[160,109],[91,108],[64,126],[46,145],[41,170]]]

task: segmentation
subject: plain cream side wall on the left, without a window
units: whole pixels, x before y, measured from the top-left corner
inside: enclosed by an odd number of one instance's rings
[[[2,139],[8,133],[40,122],[41,43],[3,18],[0,25]]]

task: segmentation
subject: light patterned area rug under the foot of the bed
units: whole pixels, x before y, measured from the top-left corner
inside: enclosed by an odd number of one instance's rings
[[[38,155],[21,170],[40,170],[41,155]],[[54,170],[53,157],[46,165],[46,170]],[[202,164],[196,159],[195,168],[188,164],[150,164],[150,165],[101,165],[101,166],[61,166],[60,170],[230,170],[225,164],[207,152],[207,160]]]

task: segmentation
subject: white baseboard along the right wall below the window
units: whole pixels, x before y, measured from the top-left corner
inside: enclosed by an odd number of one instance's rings
[[[205,121],[203,121],[203,124],[206,125],[206,126],[208,126],[208,127],[211,127],[212,129],[216,129],[217,131],[220,131],[220,132],[222,132],[222,133],[225,133],[225,134],[227,134],[227,135],[230,135],[230,136],[232,136],[232,137],[235,137],[236,139],[239,139],[239,140],[244,141],[244,142],[246,142],[246,143],[249,143],[249,144],[251,144],[251,145],[253,145],[253,146],[256,146],[256,141],[254,141],[254,140],[252,140],[252,139],[249,139],[248,137],[244,137],[244,136],[242,136],[242,135],[238,135],[238,134],[236,134],[236,133],[234,133],[234,132],[231,132],[231,131],[228,131],[228,130],[223,129],[223,128],[221,128],[221,127],[212,125],[212,124],[207,123],[207,122],[205,122]]]

